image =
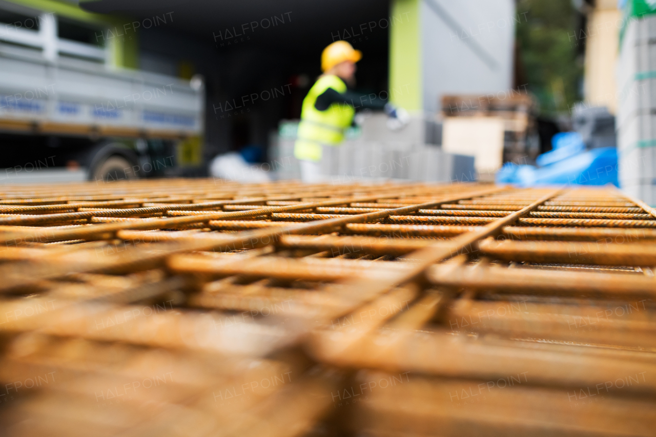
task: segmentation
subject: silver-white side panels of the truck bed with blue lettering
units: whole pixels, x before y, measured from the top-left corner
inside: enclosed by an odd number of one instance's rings
[[[0,49],[0,131],[202,136],[204,93],[198,85],[192,88],[189,81],[155,73]]]

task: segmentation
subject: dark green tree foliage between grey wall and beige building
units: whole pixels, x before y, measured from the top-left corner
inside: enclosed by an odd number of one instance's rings
[[[519,0],[517,12],[526,18],[517,25],[517,43],[528,88],[543,114],[567,112],[581,100],[579,14],[571,0]]]

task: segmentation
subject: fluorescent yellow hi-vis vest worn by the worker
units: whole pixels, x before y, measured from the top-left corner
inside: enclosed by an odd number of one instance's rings
[[[325,111],[319,111],[314,107],[317,98],[329,88],[344,93],[346,83],[335,75],[319,77],[303,99],[298,135],[294,145],[294,156],[297,159],[319,161],[321,145],[337,146],[344,140],[344,131],[353,122],[356,112],[350,105],[333,103]]]

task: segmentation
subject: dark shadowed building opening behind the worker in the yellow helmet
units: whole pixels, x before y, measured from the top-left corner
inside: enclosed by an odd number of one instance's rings
[[[321,73],[321,51],[338,39],[364,54],[359,90],[388,87],[388,1],[100,0],[81,7],[126,22],[171,18],[139,30],[139,68],[203,75],[206,159],[247,145],[260,146],[266,159],[269,133],[281,119],[300,116],[302,99]]]

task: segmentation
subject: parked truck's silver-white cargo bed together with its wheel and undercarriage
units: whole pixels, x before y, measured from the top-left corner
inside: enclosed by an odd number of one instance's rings
[[[179,174],[199,163],[202,79],[112,68],[0,43],[0,167],[85,167],[90,180]],[[178,168],[179,170],[179,168]]]

